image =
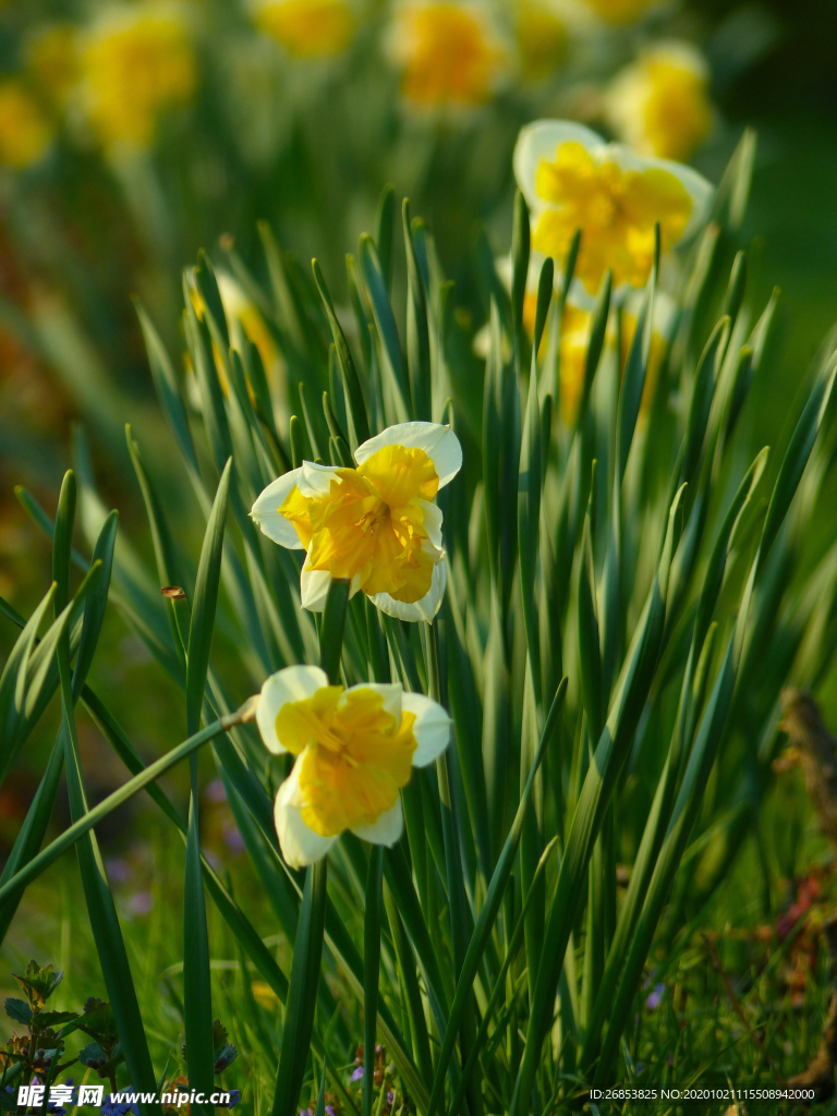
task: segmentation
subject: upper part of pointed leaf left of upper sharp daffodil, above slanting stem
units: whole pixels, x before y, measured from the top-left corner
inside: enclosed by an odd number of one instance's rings
[[[218,485],[198,566],[192,623],[189,627],[186,665],[186,731],[190,734],[194,733],[200,724],[203,692],[206,686],[212,629],[218,605],[218,587],[221,578],[221,557],[231,470],[232,459],[230,458]]]

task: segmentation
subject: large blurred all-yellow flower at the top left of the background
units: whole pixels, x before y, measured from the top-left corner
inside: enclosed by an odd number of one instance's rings
[[[187,102],[196,81],[183,19],[161,3],[107,10],[86,36],[81,65],[90,121],[108,145],[147,147],[161,112]]]

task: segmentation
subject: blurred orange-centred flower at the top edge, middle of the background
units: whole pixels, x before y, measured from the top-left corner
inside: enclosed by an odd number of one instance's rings
[[[509,52],[479,3],[405,0],[388,37],[402,93],[419,108],[474,108],[493,96]]]

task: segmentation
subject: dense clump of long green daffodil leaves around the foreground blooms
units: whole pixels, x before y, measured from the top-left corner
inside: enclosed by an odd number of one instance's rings
[[[3,609],[22,627],[0,680],[3,748],[13,758],[58,687],[62,723],[0,879],[0,915],[8,927],[22,888],[76,846],[113,1012],[88,1004],[76,1019],[94,1040],[86,1065],[110,1076],[124,1052],[132,1084],[148,1091],[162,1068],[152,1062],[93,831],[145,789],[185,840],[191,1087],[211,1087],[238,1049],[217,1019],[206,894],[241,972],[252,966],[280,1004],[268,1026],[252,992],[244,995],[259,1057],[276,1069],[259,1110],[321,1109],[328,1085],[345,1112],[365,1116],[383,1112],[389,1088],[405,1112],[423,1116],[456,1116],[464,1105],[471,1116],[522,1116],[532,1106],[569,1110],[584,1083],[633,1072],[633,1019],[658,969],[655,946],[664,956],[687,941],[752,824],[742,804],[753,788],[757,797],[768,791],[781,686],[824,677],[837,650],[833,625],[816,615],[819,598],[834,602],[834,551],[811,549],[806,533],[828,499],[833,352],[812,372],[787,446],[771,455],[775,472],[767,449],[748,439],[775,305],[750,304],[738,243],[750,147],[748,138],[731,164],[716,223],[682,261],[676,333],[662,363],[653,358],[656,267],[624,360],[627,314],[605,277],[571,415],[559,387],[578,240],[567,260],[540,271],[530,338],[522,198],[510,294],[480,256],[488,356],[475,387],[471,338],[451,312],[432,237],[406,204],[398,271],[391,191],[377,241],[364,237],[349,266],[348,312],[316,261],[311,282],[261,230],[269,286],[248,282],[281,353],[287,408],[243,327],[228,319],[209,257],[184,279],[192,379],[175,371],[141,311],[171,441],[205,522],[200,555],[181,529],[162,459],[141,453],[129,430],[155,569],[126,538],[117,541],[116,516],[106,514],[80,455],[81,482],[68,474],[55,527],[25,499],[54,537],[54,589],[28,624]],[[405,306],[391,295],[400,290]],[[462,474],[440,499],[449,584],[439,615],[407,625],[333,580],[315,622],[299,605],[298,556],[261,536],[248,509],[290,465],[320,454],[346,465],[368,434],[430,417],[450,421],[464,451]],[[76,502],[92,565],[71,598]],[[77,564],[87,566],[80,556]],[[185,739],[147,767],[87,682],[106,600],[183,695]],[[49,607],[55,633],[38,643]],[[231,695],[254,693],[271,671],[305,661],[318,661],[335,684],[396,681],[427,693],[450,710],[453,732],[435,768],[404,788],[405,834],[395,847],[369,852],[346,836],[301,874],[283,860],[273,829],[286,760],[266,756],[252,709],[234,712]],[[79,701],[131,772],[92,809]],[[269,917],[279,931],[278,956],[202,852],[204,743],[269,912],[259,922]],[[156,780],[187,757],[184,818]],[[62,764],[73,824],[40,850]],[[721,870],[704,860],[710,839],[731,850],[715,862]],[[617,864],[629,867],[624,894]],[[23,1001],[8,1003],[23,1021]],[[359,1094],[347,1079],[353,1060],[363,1067]]]

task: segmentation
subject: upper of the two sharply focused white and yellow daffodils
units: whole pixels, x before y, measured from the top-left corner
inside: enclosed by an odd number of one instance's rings
[[[272,484],[250,514],[268,538],[307,550],[302,606],[325,607],[333,578],[347,578],[382,612],[432,620],[444,595],[442,513],[431,501],[462,468],[449,426],[389,426],[355,452],[357,469],[305,461]]]

